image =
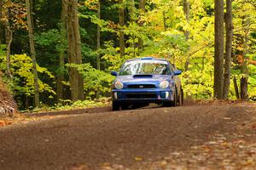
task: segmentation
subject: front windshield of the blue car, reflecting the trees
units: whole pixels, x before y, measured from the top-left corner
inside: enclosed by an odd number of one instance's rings
[[[119,72],[126,75],[169,75],[171,74],[167,61],[162,60],[133,60],[125,62]]]

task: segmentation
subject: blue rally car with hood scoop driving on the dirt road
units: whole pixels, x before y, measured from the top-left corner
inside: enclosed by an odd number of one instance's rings
[[[112,89],[113,111],[137,108],[149,103],[183,105],[182,71],[166,59],[145,57],[125,61],[115,76]]]

